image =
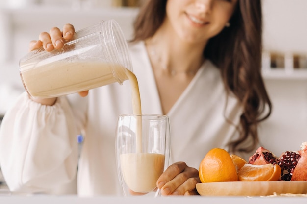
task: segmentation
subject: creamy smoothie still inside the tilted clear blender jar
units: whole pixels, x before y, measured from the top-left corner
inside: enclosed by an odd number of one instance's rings
[[[117,82],[113,72],[122,81],[128,79],[126,68],[99,61],[53,62],[22,64],[20,74],[26,90],[33,97],[57,97],[86,91]],[[128,69],[127,69],[128,70]]]

